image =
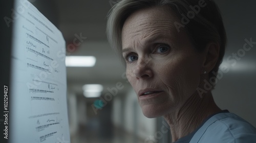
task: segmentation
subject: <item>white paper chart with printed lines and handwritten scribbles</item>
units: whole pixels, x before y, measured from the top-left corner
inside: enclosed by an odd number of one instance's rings
[[[15,1],[10,142],[70,142],[65,40],[32,4]]]

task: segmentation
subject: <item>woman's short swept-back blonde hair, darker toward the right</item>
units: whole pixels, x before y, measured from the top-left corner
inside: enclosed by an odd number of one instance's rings
[[[197,5],[205,4],[204,7]],[[225,46],[226,33],[220,11],[214,1],[210,0],[122,0],[115,4],[108,14],[106,34],[113,51],[122,57],[121,32],[124,21],[135,11],[151,7],[167,7],[182,20],[189,12],[194,12],[194,17],[183,25],[183,29],[189,35],[191,42],[201,52],[209,42],[220,45],[220,53],[215,67],[211,71],[217,72],[222,62]],[[194,10],[193,10],[194,8]],[[195,11],[196,9],[196,11]],[[123,58],[122,58],[122,61]],[[209,72],[209,78],[216,77]]]

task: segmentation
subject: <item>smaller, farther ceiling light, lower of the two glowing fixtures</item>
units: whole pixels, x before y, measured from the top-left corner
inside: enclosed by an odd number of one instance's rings
[[[103,86],[101,84],[86,84],[82,86],[83,95],[87,98],[100,97]]]

